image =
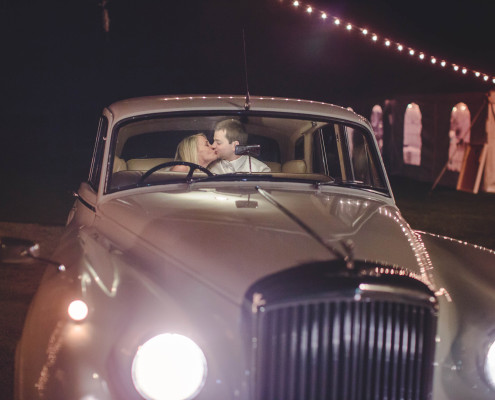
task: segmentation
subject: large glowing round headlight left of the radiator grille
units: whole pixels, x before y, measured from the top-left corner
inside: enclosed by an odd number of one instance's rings
[[[148,400],[194,398],[206,379],[206,358],[191,339],[164,333],[144,343],[132,362],[132,381]]]

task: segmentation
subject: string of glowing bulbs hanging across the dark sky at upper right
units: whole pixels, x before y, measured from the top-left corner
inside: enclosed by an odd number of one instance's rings
[[[329,12],[319,10],[313,7],[310,4],[304,3],[300,0],[289,0],[283,1],[279,0],[281,3],[289,4],[291,7],[295,9],[300,9],[307,14],[314,15],[321,20],[333,24],[335,27],[345,29],[348,32],[358,32],[363,39],[370,41],[371,43],[382,45],[385,48],[389,48],[391,50],[395,50],[398,53],[402,53],[408,57],[416,58],[421,62],[429,62],[432,66],[437,66],[439,68],[443,68],[445,70],[452,70],[455,73],[459,73],[464,76],[472,76],[476,79],[481,79],[487,83],[495,84],[495,76],[468,68],[466,66],[449,62],[446,59],[441,57],[434,56],[432,54],[428,54],[425,51],[419,50],[417,48],[413,48],[405,45],[404,43],[392,40],[386,36],[379,35],[375,33],[372,29],[361,27],[353,24],[349,21],[344,21],[341,18],[330,14]]]

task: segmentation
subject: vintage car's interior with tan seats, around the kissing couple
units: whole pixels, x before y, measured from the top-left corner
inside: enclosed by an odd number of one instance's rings
[[[135,187],[151,168],[174,161],[179,142],[204,133],[212,142],[214,127],[230,115],[155,116],[117,126],[113,133],[109,190]],[[239,118],[248,133],[248,145],[259,145],[259,160],[277,178],[360,182],[384,187],[377,157],[370,152],[364,130],[333,121],[249,115]],[[183,179],[187,173],[159,170],[147,184]],[[155,174],[153,174],[155,175]],[[206,175],[199,170],[193,175]],[[259,175],[259,173],[257,174]]]

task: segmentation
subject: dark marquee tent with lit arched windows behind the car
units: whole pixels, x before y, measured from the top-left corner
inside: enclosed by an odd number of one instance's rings
[[[489,93],[495,103],[495,92]],[[458,189],[463,177],[474,176],[480,190],[495,192],[495,104],[488,99],[479,92],[401,95],[359,100],[351,107],[383,130],[382,155],[390,175]]]

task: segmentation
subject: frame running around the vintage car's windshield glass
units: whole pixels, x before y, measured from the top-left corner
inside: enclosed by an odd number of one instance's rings
[[[112,187],[112,177],[113,177],[113,165],[115,162],[115,151],[117,146],[117,138],[120,130],[130,124],[139,121],[151,120],[151,119],[164,119],[164,118],[187,118],[187,117],[195,117],[195,118],[203,118],[203,117],[224,117],[224,118],[236,118],[239,120],[246,120],[249,117],[265,117],[265,118],[280,118],[286,120],[300,120],[300,121],[310,121],[313,124],[338,124],[339,126],[345,126],[346,129],[358,130],[361,132],[361,136],[364,138],[364,143],[367,147],[366,156],[371,158],[374,173],[376,174],[375,179],[381,183],[381,186],[373,186],[369,183],[358,182],[356,180],[348,180],[342,179],[342,177],[335,177],[332,175],[327,175],[327,179],[321,180],[316,179],[316,176],[321,176],[323,172],[310,172],[305,174],[306,176],[294,176],[295,174],[283,174],[283,173],[275,173],[275,172],[266,172],[263,174],[258,173],[235,173],[235,174],[219,174],[214,177],[207,177],[202,175],[200,177],[197,176],[189,176],[189,179],[185,179],[187,174],[183,174],[184,176],[179,177],[177,179],[169,179],[166,181],[154,180],[154,184],[161,185],[167,183],[192,183],[197,181],[203,182],[212,182],[212,181],[221,181],[221,180],[256,180],[257,176],[259,180],[267,181],[274,180],[278,182],[282,181],[290,181],[290,182],[304,182],[304,183],[314,183],[316,185],[338,185],[344,187],[354,187],[365,190],[371,190],[374,192],[378,192],[380,194],[385,194],[387,196],[391,196],[390,188],[388,185],[388,179],[386,178],[386,173],[384,171],[383,162],[381,160],[381,156],[376,148],[376,143],[374,140],[373,133],[370,131],[370,128],[365,124],[358,124],[353,121],[349,121],[346,119],[331,117],[327,115],[321,114],[302,114],[295,112],[281,112],[281,111],[264,111],[264,110],[187,110],[187,111],[169,111],[169,112],[156,112],[150,114],[142,114],[129,118],[124,118],[118,121],[112,128],[111,132],[111,142],[109,146],[109,155],[107,158],[106,165],[106,174],[105,174],[105,184],[104,184],[104,194],[110,194],[115,192],[120,192],[122,190],[132,189],[136,187],[142,186],[151,186],[153,183],[149,183],[146,185],[128,185],[121,187]],[[316,121],[316,122],[315,122]],[[312,131],[310,134],[313,134]],[[263,136],[263,135],[260,135]],[[347,135],[346,135],[347,136]],[[301,135],[300,138],[302,138]],[[299,138],[299,139],[300,139]],[[314,149],[312,149],[314,151]],[[313,157],[313,155],[311,155]],[[367,159],[370,162],[369,159]],[[348,162],[348,161],[347,161]],[[308,177],[308,175],[314,175],[314,178]],[[223,177],[223,179],[222,179]]]

